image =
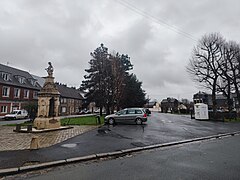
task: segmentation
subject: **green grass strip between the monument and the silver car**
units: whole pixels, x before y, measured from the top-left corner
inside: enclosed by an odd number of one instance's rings
[[[104,116],[100,117],[101,124],[104,123]],[[85,116],[76,118],[61,119],[61,125],[99,125],[96,116]]]

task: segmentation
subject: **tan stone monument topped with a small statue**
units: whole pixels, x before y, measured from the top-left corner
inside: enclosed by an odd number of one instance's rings
[[[61,125],[58,117],[60,93],[54,83],[52,63],[48,62],[48,65],[45,69],[48,76],[44,77],[45,83],[38,93],[38,114],[34,120],[34,127],[38,130],[56,129]]]

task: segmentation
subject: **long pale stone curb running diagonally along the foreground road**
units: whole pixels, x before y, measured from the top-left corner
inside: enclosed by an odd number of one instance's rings
[[[193,138],[193,139],[170,142],[170,143],[155,144],[155,145],[149,145],[149,146],[144,146],[144,147],[124,149],[124,150],[120,150],[120,151],[80,156],[80,157],[69,158],[69,159],[65,159],[65,160],[45,162],[45,163],[41,163],[41,164],[37,164],[37,165],[0,169],[0,177],[7,176],[7,175],[13,175],[13,174],[21,173],[21,172],[26,172],[26,171],[39,170],[39,169],[49,168],[49,167],[53,167],[53,166],[64,165],[64,164],[85,162],[85,161],[90,161],[90,160],[94,160],[94,159],[106,158],[106,157],[115,157],[115,156],[117,157],[117,156],[126,155],[126,154],[133,153],[133,152],[139,152],[139,151],[145,151],[145,150],[151,150],[151,149],[163,148],[163,147],[170,147],[170,146],[177,146],[180,144],[187,144],[187,143],[210,140],[210,139],[218,139],[218,138],[222,138],[222,137],[234,136],[234,135],[239,135],[239,134],[240,134],[240,131],[236,131],[236,132],[232,132],[232,133],[217,134],[217,135],[212,135],[212,136],[205,136],[205,137]]]

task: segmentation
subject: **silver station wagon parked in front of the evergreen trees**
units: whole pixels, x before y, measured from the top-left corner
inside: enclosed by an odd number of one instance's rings
[[[126,108],[105,117],[105,123],[114,124],[116,122],[135,122],[142,124],[147,121],[147,113],[143,108]]]

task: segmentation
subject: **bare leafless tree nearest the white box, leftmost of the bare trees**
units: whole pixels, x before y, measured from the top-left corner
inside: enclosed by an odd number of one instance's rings
[[[211,90],[213,114],[216,114],[216,92],[219,70],[222,66],[225,40],[218,33],[204,35],[193,49],[187,71],[200,86]]]

